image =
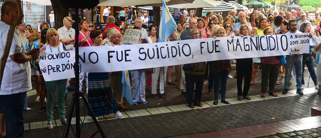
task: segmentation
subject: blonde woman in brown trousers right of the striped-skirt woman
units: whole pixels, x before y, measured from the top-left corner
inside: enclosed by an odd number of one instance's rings
[[[124,45],[123,43],[120,43],[121,34],[116,28],[113,27],[110,30],[108,30],[107,36],[108,36],[109,42],[106,42],[104,46],[109,46],[112,49],[115,46]],[[113,93],[117,108],[126,109],[127,107],[123,106],[122,74],[123,74],[123,71],[109,72],[110,87],[111,87],[111,91]]]

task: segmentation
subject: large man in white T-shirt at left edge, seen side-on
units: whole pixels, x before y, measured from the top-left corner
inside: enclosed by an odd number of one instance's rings
[[[18,10],[15,2],[4,2],[1,7],[0,56],[4,54],[10,25],[16,19],[18,19]],[[22,107],[26,91],[32,89],[29,61],[37,59],[38,56],[38,48],[26,52],[25,46],[22,45],[21,37],[18,31],[15,30],[0,90],[0,113],[5,115],[6,137],[23,137]]]

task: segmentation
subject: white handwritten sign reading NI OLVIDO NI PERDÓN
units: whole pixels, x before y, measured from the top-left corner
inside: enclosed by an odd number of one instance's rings
[[[39,66],[45,81],[74,78],[75,52],[61,51],[39,56]]]

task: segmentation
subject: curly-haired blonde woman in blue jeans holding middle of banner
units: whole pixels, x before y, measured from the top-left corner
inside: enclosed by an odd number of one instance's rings
[[[225,37],[226,31],[223,27],[218,27],[214,32],[214,38]],[[230,60],[216,60],[213,61],[213,73],[214,73],[214,105],[218,104],[219,99],[219,85],[221,82],[221,102],[225,104],[230,104],[225,100],[226,83],[227,76],[229,75],[231,69]]]

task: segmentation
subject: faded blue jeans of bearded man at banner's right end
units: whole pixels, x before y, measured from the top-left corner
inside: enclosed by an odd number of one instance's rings
[[[290,87],[290,79],[291,79],[291,71],[292,68],[295,68],[296,74],[296,82],[297,89],[301,89],[302,83],[302,56],[290,56],[286,55],[285,57],[285,77],[284,77],[284,89],[289,89]]]

